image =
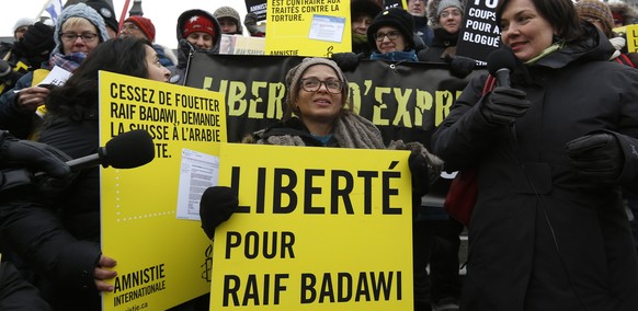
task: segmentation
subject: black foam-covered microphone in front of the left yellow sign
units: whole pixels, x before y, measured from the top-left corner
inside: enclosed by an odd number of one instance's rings
[[[98,153],[67,161],[71,171],[102,165],[115,169],[133,169],[141,166],[155,159],[155,143],[144,129],[126,131],[113,137]]]

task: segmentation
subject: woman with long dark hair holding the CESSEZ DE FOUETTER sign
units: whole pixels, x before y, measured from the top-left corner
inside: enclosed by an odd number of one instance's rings
[[[98,152],[99,71],[168,82],[149,42],[115,38],[100,44],[65,85],[53,88],[41,142],[78,159]],[[12,250],[37,274],[38,287],[55,310],[101,310],[104,280],[115,277],[114,258],[100,250],[100,170],[77,173],[62,192],[44,198],[32,193],[10,205],[2,228]],[[8,212],[7,209],[4,209]]]

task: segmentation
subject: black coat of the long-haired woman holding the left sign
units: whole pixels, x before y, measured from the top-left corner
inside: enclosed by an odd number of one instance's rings
[[[80,122],[59,118],[41,141],[77,159],[99,148],[98,115]],[[100,260],[100,171],[87,169],[67,191],[50,198],[16,195],[2,205],[1,234],[37,273],[32,280],[55,310],[101,310],[93,269]]]

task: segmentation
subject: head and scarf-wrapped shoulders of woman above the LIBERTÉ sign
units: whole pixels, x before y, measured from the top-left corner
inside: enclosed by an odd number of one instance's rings
[[[286,76],[288,95],[281,123],[249,137],[248,142],[346,148],[384,148],[380,131],[352,113],[345,77],[331,60],[306,58]],[[346,125],[364,129],[350,133]],[[282,143],[282,139],[288,139]]]

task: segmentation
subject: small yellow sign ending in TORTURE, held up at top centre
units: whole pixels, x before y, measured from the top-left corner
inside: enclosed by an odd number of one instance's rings
[[[330,57],[352,50],[350,1],[269,0],[266,55]]]

